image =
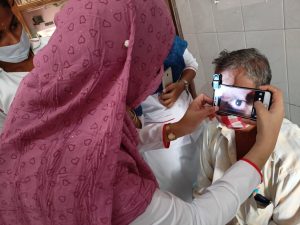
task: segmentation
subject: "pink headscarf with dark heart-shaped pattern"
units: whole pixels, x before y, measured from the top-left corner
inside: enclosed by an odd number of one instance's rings
[[[55,23],[1,135],[0,224],[129,224],[157,183],[126,105],[161,81],[169,12],[163,0],[70,0]]]

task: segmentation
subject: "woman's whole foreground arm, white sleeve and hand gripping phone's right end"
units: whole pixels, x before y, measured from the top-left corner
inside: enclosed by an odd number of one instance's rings
[[[272,86],[262,89],[273,93],[273,104],[269,111],[261,108],[260,104],[255,104],[258,117],[257,135],[260,138],[250,150],[251,154],[248,154],[247,158],[253,163],[266,162],[269,158],[274,150],[283,120],[284,106],[281,91]],[[203,104],[199,104],[199,107],[203,107]],[[269,126],[269,129],[266,129],[266,126]],[[259,156],[254,157],[254,153]],[[257,167],[262,164],[256,166],[252,164],[239,160],[226,171],[222,178],[194,199],[192,204],[183,202],[170,193],[157,190],[146,211],[132,224],[226,224],[235,216],[240,204],[250,196],[261,181]]]

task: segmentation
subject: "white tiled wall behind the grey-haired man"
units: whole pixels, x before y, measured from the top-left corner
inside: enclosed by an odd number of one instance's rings
[[[176,0],[184,38],[200,65],[198,92],[211,93],[212,60],[255,47],[284,92],[286,117],[300,125],[300,0]]]

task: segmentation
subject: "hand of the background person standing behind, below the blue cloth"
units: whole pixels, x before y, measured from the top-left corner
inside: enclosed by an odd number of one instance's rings
[[[169,84],[163,93],[159,96],[159,101],[167,108],[171,108],[177,101],[178,97],[184,90],[184,83],[182,81]]]

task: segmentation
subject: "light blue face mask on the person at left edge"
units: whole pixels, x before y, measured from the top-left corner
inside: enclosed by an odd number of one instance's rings
[[[0,47],[0,61],[9,63],[19,63],[28,59],[30,41],[24,30],[20,42],[14,45]]]

